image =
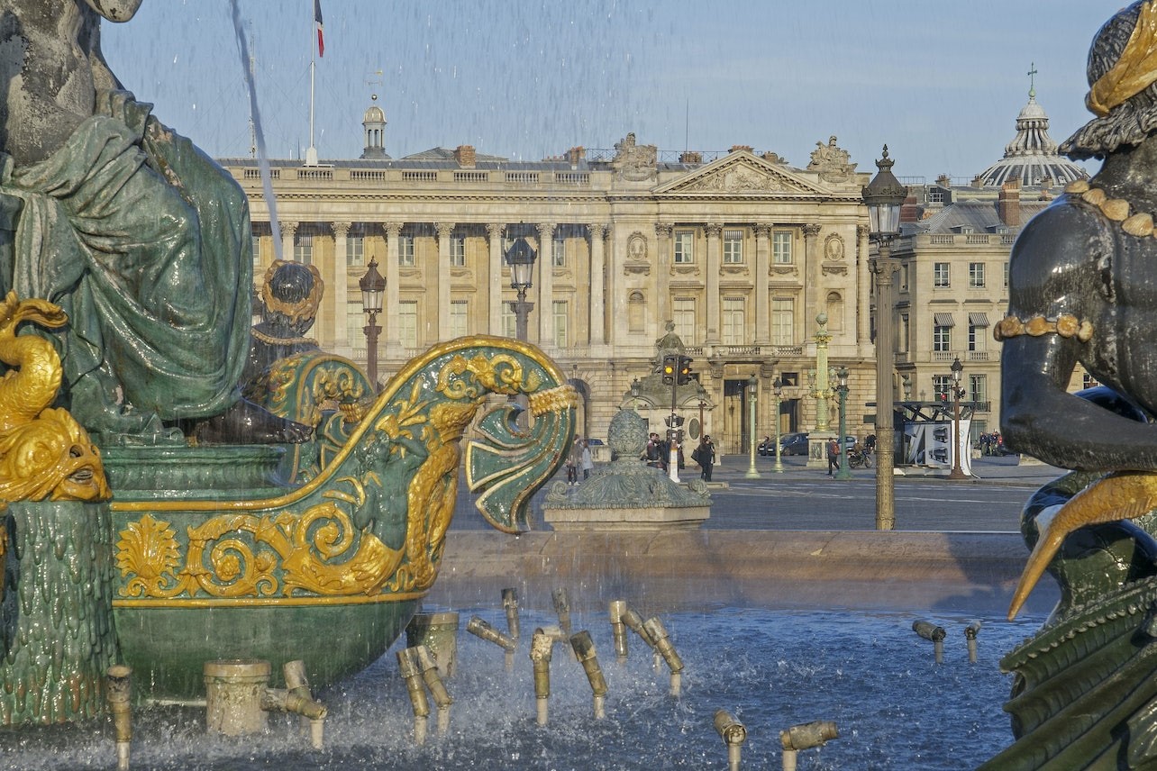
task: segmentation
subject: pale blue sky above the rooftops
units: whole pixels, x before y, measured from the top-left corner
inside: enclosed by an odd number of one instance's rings
[[[1092,116],[1085,59],[1123,0],[145,0],[103,25],[105,58],[154,113],[214,157],[250,155],[252,53],[271,158],[472,144],[538,161],[628,132],[672,155],[747,144],[806,166],[830,136],[860,171],[883,144],[901,178],[971,179],[1029,99],[1062,141]],[[371,96],[376,95],[376,102]],[[1095,170],[1095,165],[1090,166]]]

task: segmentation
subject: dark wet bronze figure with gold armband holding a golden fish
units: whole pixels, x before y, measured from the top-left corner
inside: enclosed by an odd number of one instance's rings
[[[1097,32],[1086,105],[1061,147],[1104,158],[1029,222],[1012,247],[1002,430],[1073,469],[1025,506],[1032,548],[1009,616],[1047,570],[1062,598],[1002,661],[1016,741],[986,769],[1157,768],[1157,2]],[[1067,393],[1077,363],[1106,386]],[[1132,521],[1122,521],[1132,520]]]

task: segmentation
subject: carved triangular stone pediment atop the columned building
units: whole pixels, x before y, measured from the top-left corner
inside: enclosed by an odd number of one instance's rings
[[[656,195],[694,194],[710,195],[831,195],[831,191],[817,185],[784,165],[768,163],[743,150],[714,161],[701,169],[673,179],[655,188]]]

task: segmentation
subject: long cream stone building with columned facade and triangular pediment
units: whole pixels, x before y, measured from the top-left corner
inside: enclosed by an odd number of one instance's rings
[[[804,168],[742,146],[669,158],[633,134],[613,150],[513,162],[469,146],[391,158],[384,125],[371,106],[356,160],[271,161],[275,220],[258,162],[220,160],[250,198],[255,281],[279,253],[320,270],[323,348],[366,361],[358,282],[371,259],[386,281],[383,379],[439,341],[514,336],[504,254],[523,237],[537,250],[528,336],[583,394],[582,433],[605,437],[631,403],[662,430],[670,402],[632,402],[631,386],[655,371],[668,321],[707,394],[680,410],[702,413],[724,452],[745,451],[752,376],[758,436],[774,431],[776,378],[781,430],[813,429],[809,371],[820,312],[831,365],[852,371],[849,432],[870,430],[875,410],[863,405],[875,401],[875,348],[861,200],[870,175],[856,171],[837,138],[817,142]]]

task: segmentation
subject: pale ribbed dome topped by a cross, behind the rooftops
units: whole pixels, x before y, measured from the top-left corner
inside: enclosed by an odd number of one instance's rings
[[[1056,142],[1048,135],[1048,114],[1037,104],[1037,92],[1029,89],[1029,104],[1016,118],[1016,136],[1004,146],[1004,157],[978,176],[982,187],[1000,187],[1017,179],[1022,187],[1040,187],[1048,181],[1064,186],[1089,175],[1057,155]]]

